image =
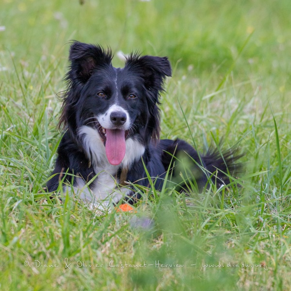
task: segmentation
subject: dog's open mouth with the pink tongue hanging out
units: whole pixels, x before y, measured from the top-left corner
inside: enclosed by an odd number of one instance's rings
[[[108,161],[112,165],[119,165],[126,153],[126,139],[129,137],[129,130],[105,129],[97,122],[98,133],[105,145],[105,152]]]

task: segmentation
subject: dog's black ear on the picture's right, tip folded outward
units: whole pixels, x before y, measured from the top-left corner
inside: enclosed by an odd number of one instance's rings
[[[167,57],[139,56],[131,54],[126,67],[140,74],[147,89],[162,91],[163,81],[166,76],[172,76],[172,69]]]

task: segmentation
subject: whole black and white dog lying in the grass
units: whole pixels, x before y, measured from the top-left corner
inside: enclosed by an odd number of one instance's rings
[[[97,206],[124,198],[133,203],[139,195],[126,184],[149,186],[149,175],[159,190],[167,171],[178,191],[201,189],[210,179],[229,182],[225,174],[238,159],[231,150],[200,156],[185,141],[160,140],[159,97],[171,76],[166,57],[133,53],[124,68],[115,68],[109,49],[73,42],[69,61],[59,123],[65,133],[49,192],[64,183]]]

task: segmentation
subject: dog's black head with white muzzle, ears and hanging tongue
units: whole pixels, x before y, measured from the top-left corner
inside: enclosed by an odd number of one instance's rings
[[[130,136],[144,144],[159,138],[159,96],[171,76],[166,57],[132,53],[124,68],[115,68],[109,49],[74,42],[69,61],[60,126],[75,133],[84,125],[96,129],[112,164],[123,159]]]

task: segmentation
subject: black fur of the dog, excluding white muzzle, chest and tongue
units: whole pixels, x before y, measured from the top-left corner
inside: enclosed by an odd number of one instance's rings
[[[166,57],[131,54],[124,68],[114,68],[109,49],[73,42],[69,61],[68,87],[59,122],[65,134],[58,147],[52,178],[47,184],[49,192],[56,191],[62,179],[76,185],[74,175],[88,182],[98,174],[97,169],[103,170],[103,164],[106,170],[109,162],[96,162],[94,156],[98,152],[94,146],[100,144],[91,142],[86,146],[84,135],[79,132],[82,126],[98,132],[100,124],[96,116],[107,114],[114,104],[124,109],[132,122],[126,139],[130,138],[134,145],[145,149],[142,155],[127,164],[126,181],[149,186],[145,164],[150,177],[156,180],[157,189],[161,189],[169,168],[173,185],[179,185],[179,191],[187,191],[189,179],[191,183],[195,180],[198,190],[201,190],[214,172],[213,181],[217,180],[219,184],[229,182],[224,173],[233,174],[238,169],[235,162],[239,156],[234,155],[235,151],[229,150],[221,155],[218,150],[210,150],[205,156],[199,156],[185,141],[160,140],[159,97],[163,81],[171,76],[171,65]],[[126,149],[127,152],[130,150]],[[115,178],[120,183],[124,182],[120,181],[122,171],[123,163],[116,166]],[[179,178],[181,175],[183,179]],[[90,184],[92,191],[97,183],[98,177]],[[134,196],[134,192],[129,191],[127,195]]]

